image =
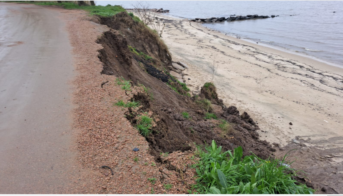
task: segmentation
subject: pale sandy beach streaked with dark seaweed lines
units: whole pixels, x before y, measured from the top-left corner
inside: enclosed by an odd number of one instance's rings
[[[260,139],[280,145],[276,155],[298,149],[292,152],[300,156],[293,165],[309,176],[326,175],[328,181],[335,181],[331,172],[342,175],[343,69],[231,37],[200,23],[162,17],[163,39],[173,60],[190,66],[183,72],[184,81],[194,93],[211,81],[209,65],[215,58],[219,66],[213,82],[219,97],[226,106],[236,106],[257,121]],[[327,170],[332,167],[334,171]]]

